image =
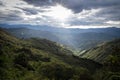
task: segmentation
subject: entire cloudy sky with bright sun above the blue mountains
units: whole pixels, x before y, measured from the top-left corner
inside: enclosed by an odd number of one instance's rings
[[[0,0],[0,24],[120,28],[120,0]]]

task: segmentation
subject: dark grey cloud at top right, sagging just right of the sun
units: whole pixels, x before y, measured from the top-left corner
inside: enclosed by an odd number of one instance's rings
[[[79,12],[82,9],[104,8],[114,5],[120,5],[120,0],[68,0],[66,4],[68,8]]]

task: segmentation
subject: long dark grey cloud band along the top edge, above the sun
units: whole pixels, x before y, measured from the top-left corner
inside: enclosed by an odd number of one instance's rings
[[[35,6],[48,6],[56,3],[72,9],[74,12],[80,12],[83,9],[102,8],[120,5],[120,0],[24,0]],[[52,1],[52,3],[50,3]]]

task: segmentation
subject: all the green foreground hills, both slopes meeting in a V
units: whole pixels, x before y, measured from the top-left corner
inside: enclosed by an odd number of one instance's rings
[[[56,42],[0,29],[0,80],[120,80],[119,45],[104,42],[78,57]]]

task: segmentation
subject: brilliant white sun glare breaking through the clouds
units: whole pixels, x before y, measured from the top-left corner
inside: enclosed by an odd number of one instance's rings
[[[72,14],[73,14],[73,12],[70,9],[67,9],[60,4],[57,4],[56,6],[50,7],[48,9],[48,12],[45,15],[49,15],[50,17],[52,17],[56,20],[65,21]]]

